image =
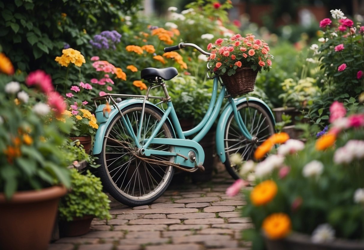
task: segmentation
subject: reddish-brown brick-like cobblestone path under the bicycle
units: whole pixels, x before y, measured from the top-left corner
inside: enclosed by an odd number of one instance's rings
[[[113,219],[94,219],[89,233],[61,238],[49,250],[248,250],[241,240],[241,230],[251,227],[240,217],[244,200],[225,195],[232,183],[218,167],[211,181],[173,184],[149,206],[112,200]]]

